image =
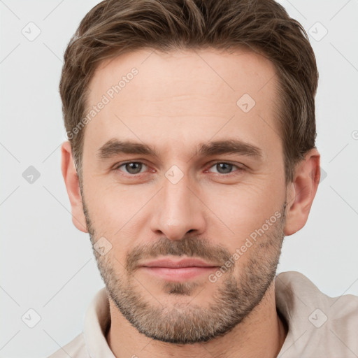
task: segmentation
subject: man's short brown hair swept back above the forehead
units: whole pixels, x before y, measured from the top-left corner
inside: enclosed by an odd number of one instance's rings
[[[294,166],[315,148],[318,73],[306,31],[273,0],[106,0],[94,6],[64,54],[59,91],[66,131],[83,119],[88,84],[103,59],[145,48],[240,47],[275,65],[285,177],[292,182]],[[79,176],[84,131],[69,138]]]

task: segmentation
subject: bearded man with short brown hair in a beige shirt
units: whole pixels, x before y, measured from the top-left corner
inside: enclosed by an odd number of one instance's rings
[[[62,173],[106,287],[51,357],[357,357],[357,297],[275,278],[320,180],[301,25],[271,0],[103,1],[64,58]]]

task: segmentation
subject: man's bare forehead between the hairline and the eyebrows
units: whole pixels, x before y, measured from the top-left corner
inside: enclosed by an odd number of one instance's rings
[[[233,129],[258,143],[270,138],[268,127],[277,140],[276,84],[273,64],[248,50],[129,52],[94,73],[84,144],[99,148],[113,137],[189,144]]]

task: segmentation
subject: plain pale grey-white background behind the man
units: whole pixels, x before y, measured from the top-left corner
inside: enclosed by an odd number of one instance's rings
[[[59,75],[66,44],[98,1],[0,1],[0,357],[47,357],[83,329],[103,287],[88,234],[71,222],[60,171]],[[358,1],[282,0],[317,56],[317,148],[327,177],[278,271],[300,271],[329,296],[358,295]],[[22,29],[41,34],[29,41]],[[34,32],[32,32],[34,34]],[[22,173],[34,166],[33,184]],[[29,308],[41,316],[22,322]],[[34,317],[34,315],[33,315]]]

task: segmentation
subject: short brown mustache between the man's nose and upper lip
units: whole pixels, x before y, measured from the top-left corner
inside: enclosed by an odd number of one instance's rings
[[[204,259],[209,262],[220,262],[220,266],[229,261],[230,252],[221,245],[210,245],[206,239],[185,237],[178,241],[169,238],[159,238],[153,244],[145,244],[134,248],[127,254],[125,268],[128,273],[133,273],[138,267],[138,262],[143,259],[155,259],[159,256],[185,256]]]

